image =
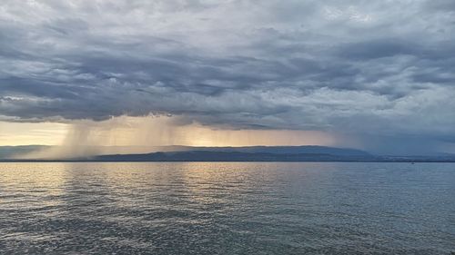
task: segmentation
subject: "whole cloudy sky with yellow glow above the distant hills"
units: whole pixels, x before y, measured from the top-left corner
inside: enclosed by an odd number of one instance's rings
[[[0,0],[0,145],[455,152],[452,0]]]

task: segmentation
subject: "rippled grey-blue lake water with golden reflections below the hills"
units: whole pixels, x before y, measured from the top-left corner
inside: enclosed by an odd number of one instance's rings
[[[450,254],[454,163],[0,163],[0,254]]]

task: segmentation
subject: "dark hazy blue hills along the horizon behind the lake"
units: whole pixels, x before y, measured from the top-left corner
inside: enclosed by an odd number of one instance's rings
[[[149,153],[115,153],[69,158],[24,158],[48,146],[0,147],[3,162],[455,162],[455,155],[385,156],[327,146],[190,147],[162,146]],[[56,150],[56,148],[53,148]]]

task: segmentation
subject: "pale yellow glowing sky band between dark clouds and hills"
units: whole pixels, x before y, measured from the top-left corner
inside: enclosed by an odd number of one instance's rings
[[[0,123],[0,145],[253,146],[335,145],[328,132],[213,128],[176,117],[120,116],[103,122]],[[6,135],[7,134],[7,135]]]

